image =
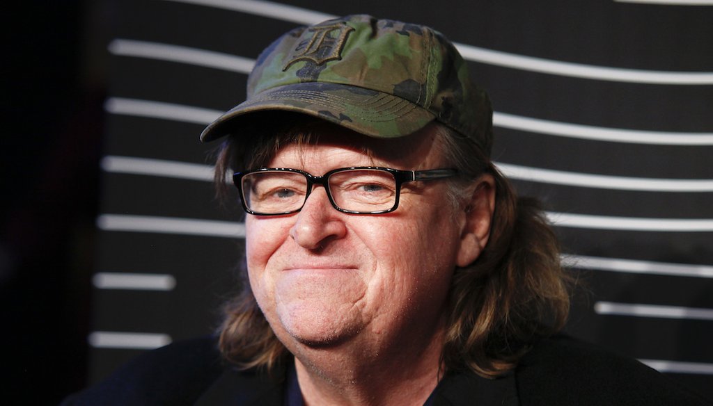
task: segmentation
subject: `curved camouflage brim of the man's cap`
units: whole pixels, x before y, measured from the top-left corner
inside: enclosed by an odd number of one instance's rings
[[[236,132],[250,113],[268,110],[312,115],[364,135],[385,138],[409,135],[435,119],[428,110],[388,93],[334,83],[294,83],[265,90],[230,109],[205,127],[200,140],[208,142]]]

